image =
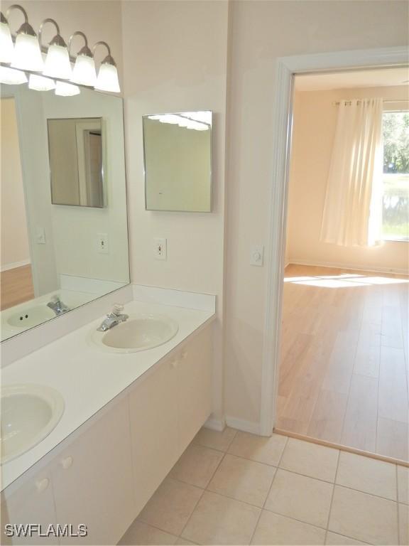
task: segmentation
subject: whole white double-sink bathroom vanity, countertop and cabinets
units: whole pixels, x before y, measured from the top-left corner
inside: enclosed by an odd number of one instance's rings
[[[3,385],[52,387],[65,410],[48,437],[2,466],[3,523],[88,530],[86,537],[9,543],[116,544],[209,417],[214,296],[192,309],[156,303],[149,291],[134,289],[144,301],[131,301],[124,312],[130,319],[168,317],[178,324],[169,341],[105,350],[94,339],[99,316],[4,368]]]

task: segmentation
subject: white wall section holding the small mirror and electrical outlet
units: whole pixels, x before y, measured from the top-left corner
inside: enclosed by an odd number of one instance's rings
[[[227,2],[126,1],[124,32],[126,173],[129,186],[131,278],[217,294],[215,414],[222,412],[224,252],[224,127]],[[142,116],[211,109],[213,213],[144,208]],[[168,239],[168,259],[154,259],[153,238]]]

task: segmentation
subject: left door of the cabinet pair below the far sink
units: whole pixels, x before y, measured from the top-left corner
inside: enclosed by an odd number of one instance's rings
[[[178,460],[178,373],[166,360],[129,395],[136,513]]]

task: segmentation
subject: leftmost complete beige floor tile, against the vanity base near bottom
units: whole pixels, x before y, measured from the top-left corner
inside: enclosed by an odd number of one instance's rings
[[[138,520],[180,535],[202,493],[202,489],[188,483],[165,478],[138,515]]]

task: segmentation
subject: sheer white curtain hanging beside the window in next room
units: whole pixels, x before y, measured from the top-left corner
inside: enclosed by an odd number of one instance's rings
[[[382,233],[382,99],[342,100],[327,181],[321,240],[371,246]]]

